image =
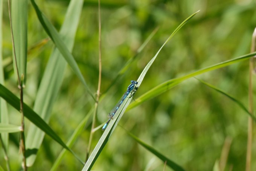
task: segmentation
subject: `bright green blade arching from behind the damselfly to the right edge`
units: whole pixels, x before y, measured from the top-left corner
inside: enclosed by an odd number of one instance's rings
[[[239,56],[238,58],[230,59],[230,60],[227,60],[227,61],[224,61],[224,62],[220,62],[220,63],[215,64],[215,65],[211,65],[209,67],[203,68],[201,70],[195,71],[195,72],[187,74],[185,76],[168,80],[168,81],[166,81],[166,82],[164,82],[164,83],[162,83],[162,84],[152,88],[151,90],[149,90],[145,94],[141,95],[139,98],[136,99],[136,101],[134,103],[132,103],[127,108],[127,110],[130,110],[130,109],[138,106],[139,104],[143,103],[144,101],[149,100],[149,99],[151,99],[153,97],[156,97],[157,95],[162,94],[163,92],[173,88],[174,86],[178,85],[179,83],[183,82],[184,80],[187,80],[187,79],[189,79],[191,77],[194,77],[194,76],[206,73],[208,71],[216,70],[218,68],[226,67],[228,65],[244,61],[244,60],[249,59],[249,58],[251,58],[252,56],[255,56],[255,55],[256,55],[256,52],[245,54],[243,56]]]

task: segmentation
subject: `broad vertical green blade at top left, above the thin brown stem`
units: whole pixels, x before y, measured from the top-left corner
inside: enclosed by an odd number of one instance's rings
[[[27,0],[12,0],[12,30],[17,58],[19,77],[24,75],[26,82],[27,66]],[[14,58],[14,55],[13,55]],[[13,60],[15,61],[15,60]],[[15,64],[14,64],[15,65]],[[15,71],[16,67],[14,66]],[[17,71],[16,71],[17,72]],[[16,74],[17,75],[17,74]]]

